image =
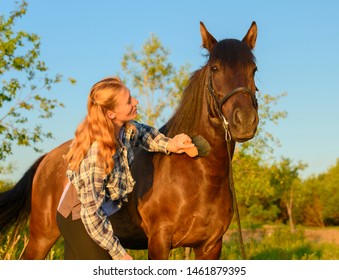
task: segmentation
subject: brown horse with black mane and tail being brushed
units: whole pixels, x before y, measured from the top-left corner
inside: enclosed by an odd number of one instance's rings
[[[173,248],[193,248],[195,259],[219,259],[222,237],[233,217],[229,166],[236,142],[252,139],[259,116],[255,98],[253,21],[242,40],[217,41],[200,22],[207,62],[190,76],[175,112],[160,129],[201,135],[208,156],[163,155],[135,151],[131,166],[137,182],[128,202],[111,222],[121,244],[147,249],[149,259],[168,259]],[[230,145],[225,140],[225,123]],[[41,156],[13,189],[0,194],[0,229],[29,221],[29,241],[22,259],[44,259],[60,236],[57,205],[67,184],[71,140]],[[228,152],[231,155],[228,156]]]

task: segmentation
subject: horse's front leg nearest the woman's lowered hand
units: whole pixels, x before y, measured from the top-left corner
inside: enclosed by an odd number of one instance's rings
[[[154,227],[157,228],[157,227]],[[171,250],[171,237],[160,227],[148,237],[148,259],[168,260]]]

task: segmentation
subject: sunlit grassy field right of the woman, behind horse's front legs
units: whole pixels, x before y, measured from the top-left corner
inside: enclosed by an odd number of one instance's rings
[[[237,231],[224,236],[222,260],[241,259]],[[263,226],[243,230],[247,258],[250,260],[339,260],[339,228],[298,227],[291,233],[286,226]],[[130,251],[137,259],[147,259],[145,251]],[[194,259],[192,251],[172,250],[170,259]]]

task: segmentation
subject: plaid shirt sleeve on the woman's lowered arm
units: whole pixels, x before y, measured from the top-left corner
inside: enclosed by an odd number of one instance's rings
[[[120,259],[126,254],[119,239],[114,236],[113,227],[102,210],[105,198],[104,170],[95,162],[80,166],[80,180],[76,187],[81,202],[80,216],[90,237],[103,249],[107,250],[112,259]]]

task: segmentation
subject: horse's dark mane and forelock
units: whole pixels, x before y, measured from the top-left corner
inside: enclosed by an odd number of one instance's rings
[[[169,137],[178,133],[192,135],[200,121],[205,89],[207,88],[208,65],[219,62],[222,67],[247,67],[255,63],[255,57],[246,43],[236,39],[224,39],[211,51],[205,66],[195,71],[183,91],[177,109],[161,129]]]

